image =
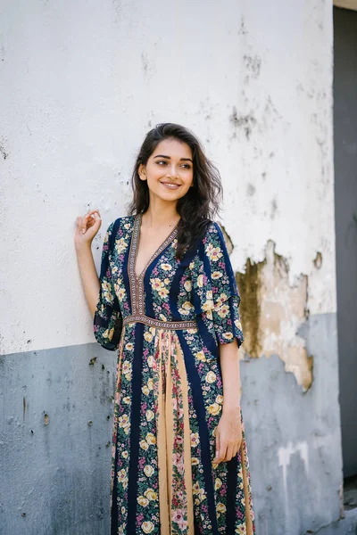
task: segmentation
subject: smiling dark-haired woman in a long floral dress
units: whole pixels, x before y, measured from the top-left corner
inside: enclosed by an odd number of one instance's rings
[[[77,218],[75,238],[95,338],[118,350],[112,534],[250,535],[240,298],[212,222],[220,175],[191,132],[164,123],[145,137],[132,184],[99,280],[98,210]]]

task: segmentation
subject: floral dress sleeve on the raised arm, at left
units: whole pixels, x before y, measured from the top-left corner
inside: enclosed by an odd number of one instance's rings
[[[106,350],[117,350],[121,334],[121,312],[119,300],[112,283],[112,235],[114,223],[108,227],[103,244],[101,271],[99,276],[99,299],[94,316],[94,333],[96,342]]]

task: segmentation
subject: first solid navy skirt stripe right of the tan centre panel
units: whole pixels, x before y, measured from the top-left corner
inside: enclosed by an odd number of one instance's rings
[[[198,421],[198,432],[200,435],[200,444],[202,451],[204,488],[207,496],[207,506],[212,523],[212,535],[218,535],[218,525],[216,517],[216,505],[214,500],[214,487],[212,480],[212,459],[210,451],[210,436],[206,422],[206,409],[204,407],[203,392],[200,375],[198,374],[194,357],[189,349],[182,331],[177,331],[180,346],[182,348],[185,366],[187,371],[187,380],[192,391],[192,398],[195,407],[195,413]]]

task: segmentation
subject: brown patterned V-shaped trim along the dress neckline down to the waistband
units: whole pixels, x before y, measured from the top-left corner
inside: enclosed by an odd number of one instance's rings
[[[129,284],[130,284],[130,292],[131,292],[131,309],[133,313],[138,314],[144,314],[144,277],[145,273],[147,271],[147,268],[149,268],[150,264],[154,262],[154,259],[157,259],[157,257],[166,249],[166,247],[173,242],[175,237],[178,235],[178,227],[179,223],[177,223],[176,226],[172,229],[170,232],[170,235],[168,235],[165,240],[162,242],[162,244],[154,251],[152,256],[147,260],[144,269],[141,271],[139,275],[137,275],[136,272],[136,263],[137,263],[137,251],[138,251],[138,245],[139,245],[139,238],[140,238],[140,227],[141,227],[141,219],[142,214],[137,214],[134,220],[134,227],[133,227],[133,234],[131,238],[130,243],[130,251],[129,251],[129,264],[128,264],[128,272],[129,272]]]

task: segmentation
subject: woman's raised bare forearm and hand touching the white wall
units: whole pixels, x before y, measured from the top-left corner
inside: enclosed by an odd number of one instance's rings
[[[79,273],[88,308],[94,317],[99,299],[100,284],[92,254],[92,241],[102,224],[99,210],[91,210],[85,216],[79,216],[76,219],[76,223],[74,243],[76,246]]]

